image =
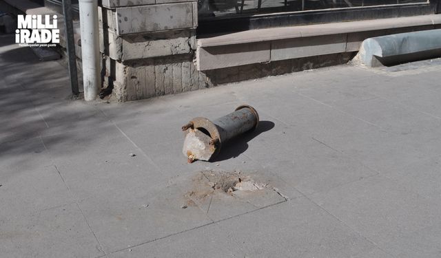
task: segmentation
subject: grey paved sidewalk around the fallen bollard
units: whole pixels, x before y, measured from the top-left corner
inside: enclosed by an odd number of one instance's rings
[[[0,257],[441,255],[440,61],[84,103],[59,63],[9,42]],[[181,126],[244,103],[258,130],[187,164]],[[223,175],[263,189],[213,190]]]

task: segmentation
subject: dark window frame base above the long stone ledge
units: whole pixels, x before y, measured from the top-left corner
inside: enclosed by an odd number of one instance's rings
[[[205,20],[201,17],[198,21],[197,34],[198,36],[209,36],[211,34],[225,34],[293,25],[437,14],[441,12],[440,3],[441,0],[430,0],[426,3],[402,3],[269,14],[240,14],[237,17],[219,17],[218,19],[211,20]]]

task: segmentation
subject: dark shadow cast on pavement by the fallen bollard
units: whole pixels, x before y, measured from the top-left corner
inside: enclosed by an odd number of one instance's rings
[[[248,142],[259,136],[260,133],[265,133],[274,128],[274,122],[260,121],[257,128],[254,131],[245,133],[241,136],[233,138],[225,146],[220,149],[220,153],[214,157],[210,162],[218,162],[222,160],[229,160],[230,158],[236,158],[241,153],[244,153],[248,149]]]

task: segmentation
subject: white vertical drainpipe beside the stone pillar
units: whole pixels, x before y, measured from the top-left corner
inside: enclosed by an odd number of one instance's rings
[[[98,0],[79,0],[84,100],[96,98],[100,85]]]

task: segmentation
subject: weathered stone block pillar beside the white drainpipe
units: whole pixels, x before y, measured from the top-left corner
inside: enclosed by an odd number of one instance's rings
[[[118,101],[205,87],[196,71],[197,3],[103,0],[99,8],[104,87]]]

